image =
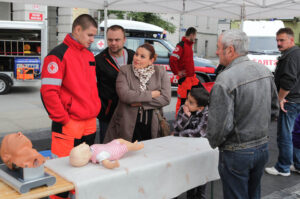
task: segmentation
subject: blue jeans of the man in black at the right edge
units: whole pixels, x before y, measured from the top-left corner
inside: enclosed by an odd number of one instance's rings
[[[292,132],[295,120],[300,113],[300,104],[287,102],[284,108],[287,112],[280,110],[277,123],[279,155],[275,168],[280,172],[289,173],[290,166],[293,164]],[[299,151],[295,151],[295,156],[300,156]]]

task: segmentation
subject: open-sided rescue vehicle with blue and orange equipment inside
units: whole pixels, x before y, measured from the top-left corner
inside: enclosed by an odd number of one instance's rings
[[[47,54],[45,22],[0,21],[0,95],[40,78]]]

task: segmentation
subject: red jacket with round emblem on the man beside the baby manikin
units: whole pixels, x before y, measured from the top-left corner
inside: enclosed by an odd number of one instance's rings
[[[68,34],[44,59],[41,97],[54,122],[97,117],[101,102],[94,55]]]

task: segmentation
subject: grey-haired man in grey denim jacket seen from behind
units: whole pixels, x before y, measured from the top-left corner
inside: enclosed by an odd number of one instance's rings
[[[272,73],[250,61],[248,37],[229,30],[219,37],[216,54],[225,69],[211,91],[207,138],[219,147],[224,198],[260,198],[268,161],[268,131],[278,99]]]

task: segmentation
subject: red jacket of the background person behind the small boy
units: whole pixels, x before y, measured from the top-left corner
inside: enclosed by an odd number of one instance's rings
[[[186,77],[194,76],[193,54],[193,42],[182,37],[181,42],[176,45],[170,56],[170,67],[174,75],[178,75],[179,71],[185,71]]]

